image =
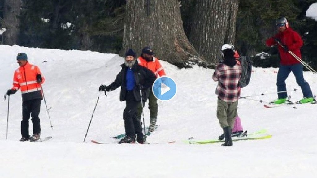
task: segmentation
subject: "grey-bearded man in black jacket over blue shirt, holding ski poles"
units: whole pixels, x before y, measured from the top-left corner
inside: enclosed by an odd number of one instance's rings
[[[126,101],[126,108],[123,111],[126,137],[122,138],[119,143],[134,143],[135,135],[137,135],[138,143],[143,144],[141,120],[136,116],[136,111],[141,105],[141,101],[144,106],[156,76],[149,69],[138,64],[132,49],[126,51],[125,62],[121,64],[121,67],[116,79],[108,86],[101,85],[99,91],[109,92],[121,86],[120,101]]]

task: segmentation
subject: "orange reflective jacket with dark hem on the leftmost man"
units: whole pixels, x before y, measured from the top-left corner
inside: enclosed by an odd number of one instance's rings
[[[24,66],[19,67],[14,72],[12,89],[18,90],[21,88],[22,101],[31,99],[42,99],[41,85],[36,82],[36,75],[41,74],[40,69],[27,62]],[[42,83],[44,77],[42,76]],[[42,84],[41,83],[41,84]]]

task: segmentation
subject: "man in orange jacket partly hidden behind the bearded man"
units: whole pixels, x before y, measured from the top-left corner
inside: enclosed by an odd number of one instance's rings
[[[150,69],[156,75],[156,77],[165,76],[165,71],[162,65],[160,64],[159,59],[154,57],[153,54],[154,54],[153,50],[150,47],[143,48],[142,54],[138,58],[139,65]],[[149,125],[148,131],[152,132],[155,129],[157,115],[158,115],[157,98],[154,96],[152,89],[150,90],[150,94],[149,94],[149,110],[150,110],[150,125]],[[137,112],[138,118],[141,118],[141,114],[142,114],[142,107],[140,106]]]

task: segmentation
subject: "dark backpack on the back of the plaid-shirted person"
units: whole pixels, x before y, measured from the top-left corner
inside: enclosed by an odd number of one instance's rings
[[[252,61],[247,58],[246,56],[241,56],[237,60],[240,61],[241,64],[241,77],[239,79],[239,86],[241,88],[247,86],[251,79],[251,73],[252,73]]]

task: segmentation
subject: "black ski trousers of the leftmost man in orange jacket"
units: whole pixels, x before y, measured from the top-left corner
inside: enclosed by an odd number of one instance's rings
[[[29,138],[29,119],[32,117],[33,134],[41,133],[40,114],[41,99],[32,99],[22,102],[22,121],[21,135],[24,138]]]

